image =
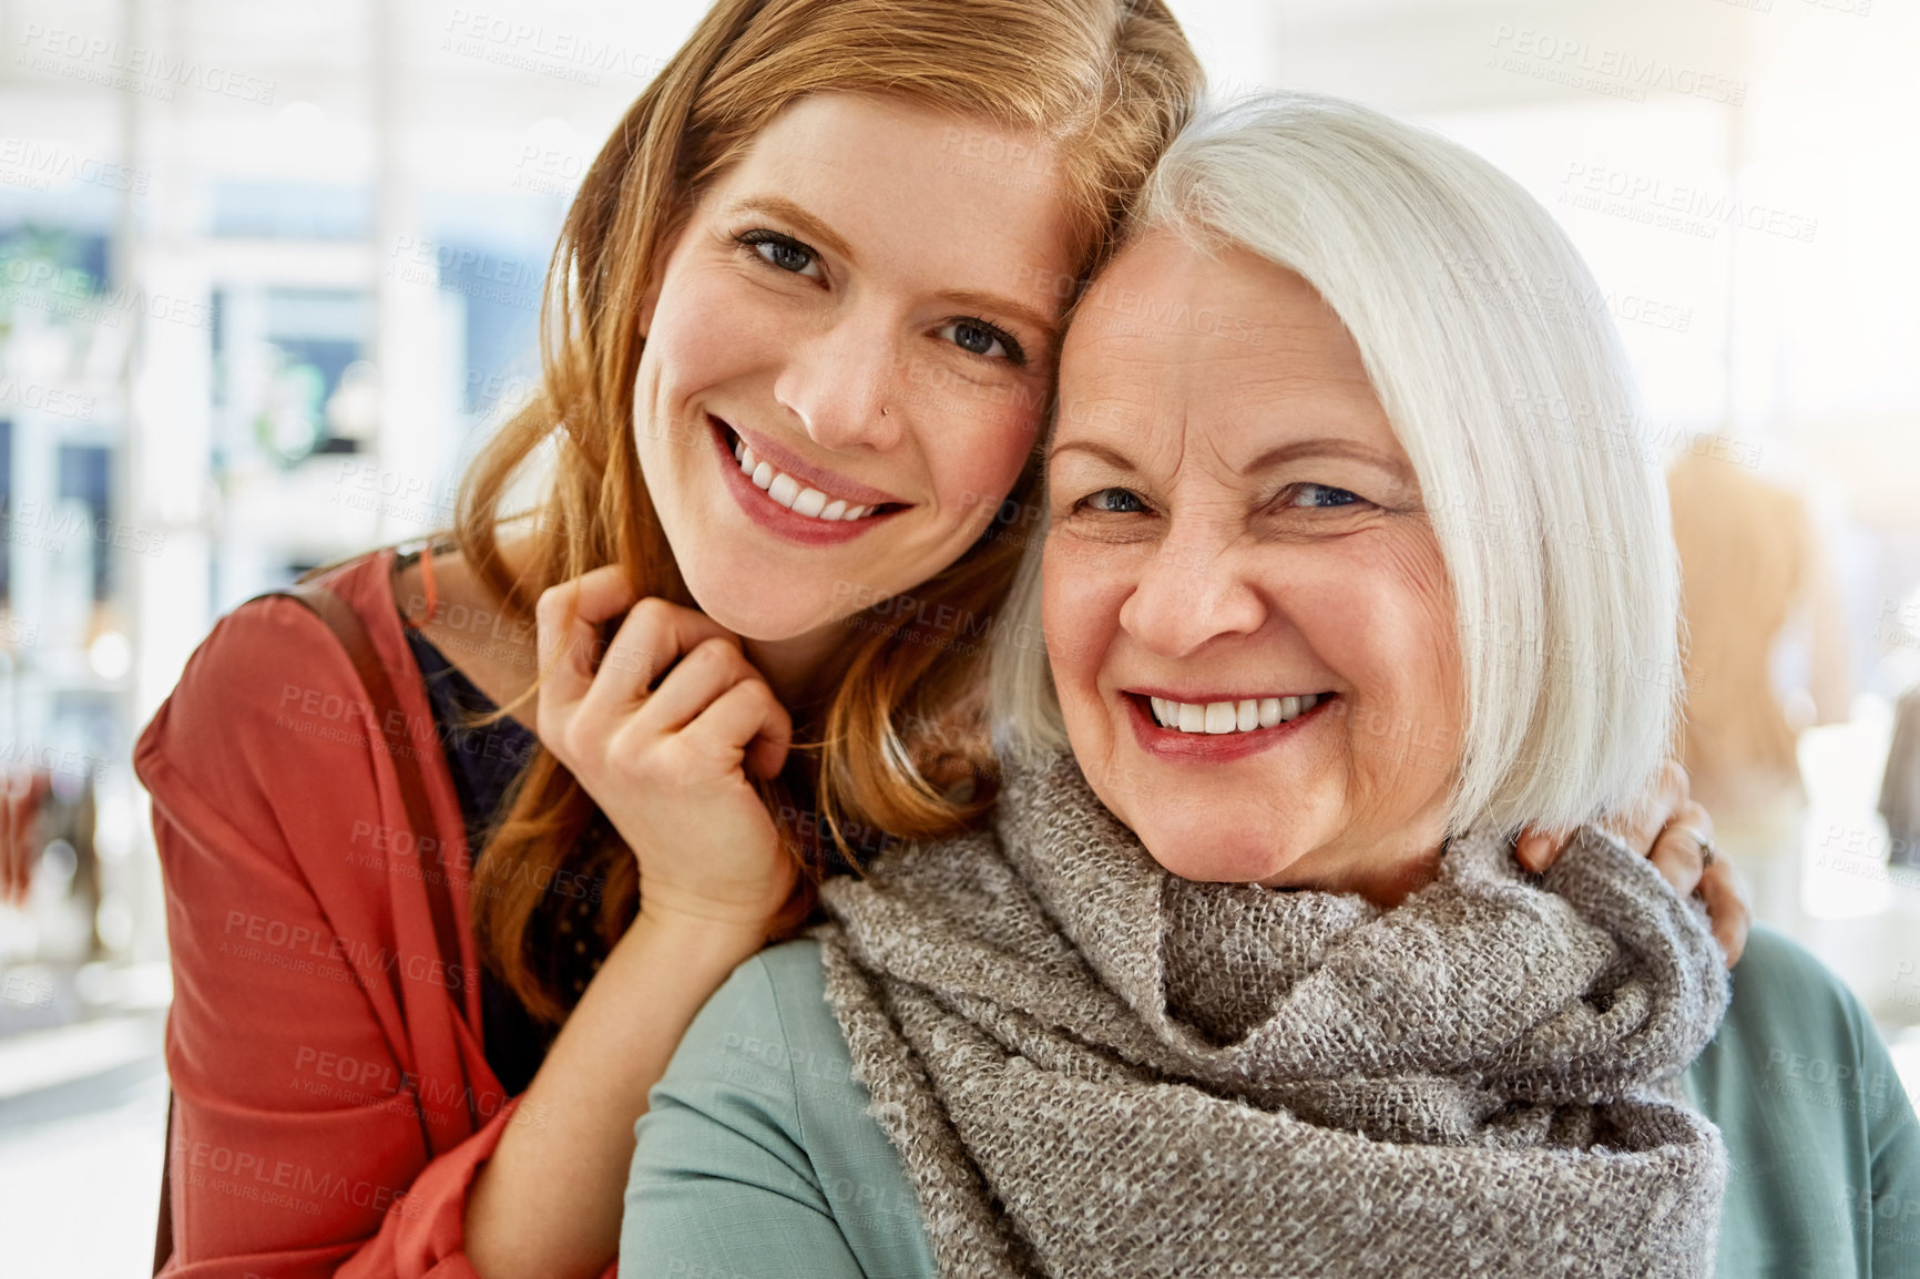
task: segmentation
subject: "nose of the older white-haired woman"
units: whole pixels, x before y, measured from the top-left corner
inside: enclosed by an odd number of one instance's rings
[[[1169,536],[1119,609],[1121,628],[1162,657],[1190,657],[1221,636],[1250,636],[1267,605],[1223,536]]]

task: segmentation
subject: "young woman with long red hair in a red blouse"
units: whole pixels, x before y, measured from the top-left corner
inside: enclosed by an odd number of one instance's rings
[[[1156,0],[703,19],[582,186],[545,394],[451,538],[323,574],[434,830],[288,599],[225,616],[142,734],[177,1273],[612,1264],[632,1123],[701,1002],[831,851],[991,801],[975,689],[1060,315],[1198,83]],[[1678,818],[1655,857],[1684,874],[1707,816],[1655,807],[1638,847]]]

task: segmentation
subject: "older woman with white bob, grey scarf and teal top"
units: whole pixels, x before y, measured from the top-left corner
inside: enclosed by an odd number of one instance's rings
[[[1311,96],[1183,134],[1066,340],[995,828],[708,1002],[622,1273],[1910,1267],[1920,1129],[1843,987],[1755,929],[1705,1047],[1697,905],[1592,826],[1507,855],[1674,712],[1632,382],[1549,288],[1597,296],[1434,136]]]

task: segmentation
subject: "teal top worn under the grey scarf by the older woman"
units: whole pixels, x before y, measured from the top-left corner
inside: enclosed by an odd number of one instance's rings
[[[1716,1275],[1920,1277],[1920,1123],[1874,1024],[1816,958],[1755,928],[1684,1085],[1732,1170]],[[743,964],[634,1129],[622,1279],[933,1279],[914,1189],[866,1106],[818,943]]]

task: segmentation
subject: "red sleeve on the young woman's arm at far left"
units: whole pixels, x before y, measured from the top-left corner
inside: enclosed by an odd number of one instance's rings
[[[384,997],[386,872],[359,864],[355,833],[380,812],[371,747],[294,730],[278,707],[309,693],[359,695],[332,632],[296,601],[248,603],[134,749],[175,981],[167,1273],[465,1279],[467,1189],[526,1116],[505,1100],[432,1154],[420,1108],[468,1098],[422,1075],[405,1004]]]

